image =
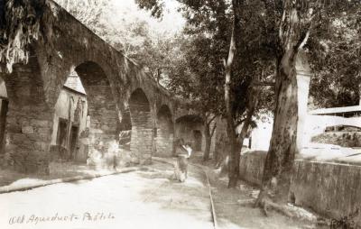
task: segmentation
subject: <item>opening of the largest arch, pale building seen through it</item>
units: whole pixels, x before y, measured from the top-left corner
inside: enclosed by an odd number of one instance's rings
[[[51,160],[86,162],[88,158],[88,99],[72,69],[54,107]]]

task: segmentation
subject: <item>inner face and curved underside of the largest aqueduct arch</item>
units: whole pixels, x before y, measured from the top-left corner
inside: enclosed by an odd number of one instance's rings
[[[75,70],[88,100],[88,165],[114,169],[119,153],[120,120],[111,85],[103,69],[94,62],[83,63]]]

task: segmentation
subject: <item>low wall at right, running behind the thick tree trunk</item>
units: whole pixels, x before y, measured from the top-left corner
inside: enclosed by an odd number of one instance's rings
[[[245,153],[240,177],[260,185],[266,152]],[[361,166],[322,161],[296,160],[290,192],[298,206],[329,218],[351,218],[361,226]]]

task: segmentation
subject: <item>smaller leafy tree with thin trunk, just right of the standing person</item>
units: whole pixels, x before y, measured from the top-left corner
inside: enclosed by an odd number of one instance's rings
[[[219,99],[222,95],[218,72],[209,60],[215,50],[210,49],[210,40],[203,35],[181,39],[179,44],[179,60],[172,62],[168,87],[197,107],[204,125],[206,145],[203,160],[206,161],[217,127],[215,119],[223,108]]]

